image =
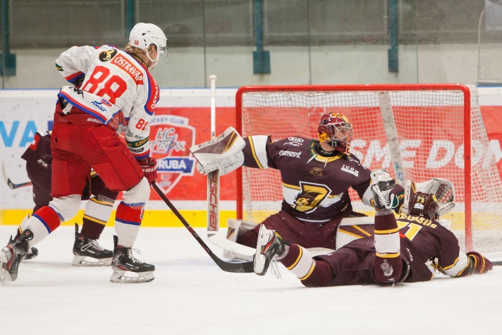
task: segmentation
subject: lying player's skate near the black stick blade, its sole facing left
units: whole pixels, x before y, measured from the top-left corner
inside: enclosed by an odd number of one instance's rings
[[[267,273],[270,262],[273,261],[274,257],[281,256],[284,252],[285,244],[279,233],[268,230],[265,225],[260,227],[253,261],[253,267],[257,275],[263,276]]]

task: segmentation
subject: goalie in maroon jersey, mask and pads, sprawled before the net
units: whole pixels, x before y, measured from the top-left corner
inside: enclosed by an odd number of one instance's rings
[[[350,153],[352,125],[344,115],[323,115],[318,139],[288,137],[274,142],[266,135],[244,139],[239,136],[237,139],[235,134],[238,135],[229,128],[217,138],[190,150],[198,161],[197,170],[203,174],[218,169],[223,175],[242,165],[280,171],[281,209],[258,223],[305,248],[336,250],[354,239],[372,235],[372,218],[353,211],[348,194],[348,189],[352,188],[364,204],[374,206],[371,171]],[[443,212],[453,206],[453,185],[447,180],[433,179],[421,184],[406,181],[403,186],[396,185],[389,190],[396,213],[407,212],[405,204],[417,190],[437,193]],[[254,250],[260,228],[258,223],[236,219],[229,219],[227,223],[227,240]],[[229,259],[253,258],[251,252],[239,252],[244,248],[223,248],[226,249],[224,256]]]

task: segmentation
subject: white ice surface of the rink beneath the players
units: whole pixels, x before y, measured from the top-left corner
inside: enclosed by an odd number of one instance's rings
[[[0,226],[2,246],[15,230]],[[223,272],[185,228],[142,228],[135,247],[155,280],[112,284],[109,267],[71,265],[73,234],[60,227],[0,286],[0,334],[502,334],[502,266],[400,287],[305,288],[282,265],[282,280]]]

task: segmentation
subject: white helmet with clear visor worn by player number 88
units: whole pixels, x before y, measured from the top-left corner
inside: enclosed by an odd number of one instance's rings
[[[157,47],[157,59],[150,58],[148,54],[151,44]],[[136,24],[129,34],[129,45],[145,50],[148,59],[154,63],[157,63],[161,55],[167,58],[167,37],[162,29],[152,23]]]

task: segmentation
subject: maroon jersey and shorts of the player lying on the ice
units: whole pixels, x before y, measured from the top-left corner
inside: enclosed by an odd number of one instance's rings
[[[455,235],[436,221],[422,216],[396,216],[401,243],[401,258],[409,266],[401,281],[431,280],[438,266],[451,277],[459,276],[468,266],[467,255],[460,251]],[[377,283],[373,275],[375,248],[373,237],[350,242],[337,251],[316,256],[333,269],[330,286]]]

